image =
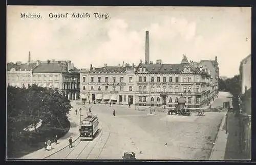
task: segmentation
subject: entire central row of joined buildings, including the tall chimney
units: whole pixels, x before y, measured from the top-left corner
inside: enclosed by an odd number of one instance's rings
[[[217,58],[202,62],[204,65],[189,63],[186,56],[180,64],[162,64],[161,60],[148,63],[148,41],[146,32],[145,62],[141,60],[138,67],[105,64],[101,68],[81,69],[81,100],[172,107],[184,97],[188,107],[209,105],[218,91],[218,79],[214,81],[217,86],[212,81],[219,77]]]

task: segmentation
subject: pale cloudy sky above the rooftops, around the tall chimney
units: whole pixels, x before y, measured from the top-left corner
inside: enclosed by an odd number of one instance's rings
[[[73,13],[90,18],[72,18]],[[31,60],[71,60],[79,69],[138,65],[145,59],[145,31],[153,63],[180,63],[182,54],[195,62],[217,56],[220,76],[232,77],[251,53],[251,8],[8,6],[7,62],[27,62],[30,51]]]

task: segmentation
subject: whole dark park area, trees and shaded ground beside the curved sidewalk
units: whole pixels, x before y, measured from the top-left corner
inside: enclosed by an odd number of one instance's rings
[[[70,101],[53,89],[7,88],[7,157],[19,158],[70,129]]]

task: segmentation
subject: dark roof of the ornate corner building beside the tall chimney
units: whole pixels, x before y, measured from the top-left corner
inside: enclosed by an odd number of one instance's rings
[[[179,73],[184,70],[184,67],[187,64],[140,64],[140,66],[146,67],[148,72],[159,73],[159,72],[166,72],[166,73]],[[196,73],[200,73],[198,68],[194,66],[190,66],[190,70]]]

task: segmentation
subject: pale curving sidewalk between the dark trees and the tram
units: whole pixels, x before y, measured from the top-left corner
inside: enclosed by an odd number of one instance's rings
[[[62,136],[60,139],[58,139],[57,144],[52,143],[52,150],[51,151],[45,151],[45,148],[42,148],[40,150],[37,150],[35,152],[32,152],[30,154],[27,154],[23,157],[22,159],[44,159],[47,158],[48,156],[58,152],[59,150],[62,150],[63,148],[66,148],[69,146],[68,139],[70,136],[72,136],[73,142],[76,141],[79,138],[79,115],[75,114],[75,109],[79,109],[81,105],[76,105],[76,101],[71,101],[71,105],[73,108],[70,110],[70,116],[69,116],[69,121],[70,121],[70,129],[69,132],[66,133],[64,136]],[[79,112],[78,112],[79,113]],[[78,114],[77,113],[77,114]]]

